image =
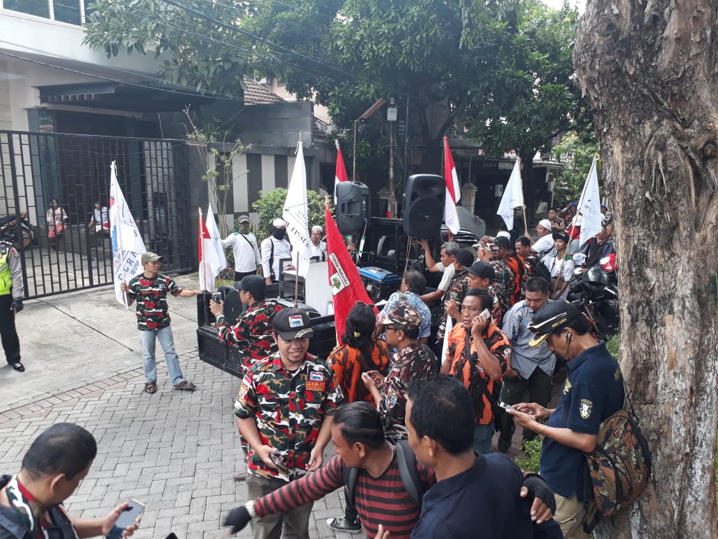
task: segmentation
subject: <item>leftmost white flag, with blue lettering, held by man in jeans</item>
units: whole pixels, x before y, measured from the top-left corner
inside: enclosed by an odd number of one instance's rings
[[[129,282],[143,271],[141,258],[147,249],[127,206],[125,195],[117,183],[117,167],[114,161],[110,165],[110,234],[115,298],[126,307],[120,285]]]

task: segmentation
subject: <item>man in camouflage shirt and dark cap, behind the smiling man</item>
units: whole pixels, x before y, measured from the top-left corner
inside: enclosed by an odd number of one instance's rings
[[[266,299],[266,283],[259,275],[246,275],[238,285],[239,299],[247,310],[230,326],[225,319],[223,303],[210,301],[210,310],[217,318],[216,327],[225,344],[237,346],[242,352],[242,364],[249,369],[257,361],[267,359],[276,352],[271,320],[281,310],[276,301]]]

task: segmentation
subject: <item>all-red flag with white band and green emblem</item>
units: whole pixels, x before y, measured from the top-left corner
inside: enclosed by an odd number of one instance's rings
[[[334,321],[337,326],[337,341],[342,344],[342,335],[349,311],[355,303],[361,301],[373,305],[359,277],[347,246],[339,234],[337,224],[332,218],[329,206],[325,206],[325,230],[327,231],[327,268],[329,285],[334,295]],[[378,312],[375,308],[374,312]]]

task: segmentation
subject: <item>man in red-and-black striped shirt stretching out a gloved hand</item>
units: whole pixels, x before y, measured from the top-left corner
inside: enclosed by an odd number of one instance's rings
[[[345,486],[344,467],[348,466],[358,469],[354,503],[366,535],[373,539],[381,524],[391,533],[391,539],[409,539],[421,507],[407,492],[399,471],[396,446],[384,437],[376,407],[366,401],[340,407],[332,423],[332,441],[337,455],[327,466],[271,494],[248,501],[230,512],[224,525],[231,528],[231,533],[237,533],[253,518],[286,512],[322,499]],[[416,486],[417,494],[423,494],[436,482],[434,471],[414,461],[420,482]],[[528,489],[519,495],[525,497],[527,493]],[[550,497],[553,498],[553,494]],[[548,497],[534,499],[531,507],[536,514],[545,515],[548,505],[544,501],[550,503]]]

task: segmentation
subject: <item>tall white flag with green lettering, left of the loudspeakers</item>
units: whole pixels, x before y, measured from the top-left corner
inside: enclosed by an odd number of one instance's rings
[[[307,216],[307,170],[304,168],[302,142],[297,144],[297,160],[294,162],[292,179],[286,190],[286,201],[281,217],[286,223],[286,236],[292,244],[292,261],[299,264],[297,271],[302,277],[309,271],[309,217]]]

